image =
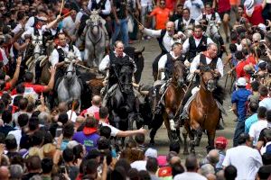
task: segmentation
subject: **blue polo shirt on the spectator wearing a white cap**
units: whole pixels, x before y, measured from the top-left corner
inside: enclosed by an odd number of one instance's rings
[[[238,112],[238,121],[246,121],[246,102],[248,101],[248,96],[252,94],[248,89],[240,88],[233,92],[231,95],[231,103],[236,103]]]

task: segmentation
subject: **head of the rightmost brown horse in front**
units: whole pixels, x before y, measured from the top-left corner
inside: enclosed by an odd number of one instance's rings
[[[201,85],[210,92],[215,90],[217,86],[214,71],[209,66],[201,68]]]

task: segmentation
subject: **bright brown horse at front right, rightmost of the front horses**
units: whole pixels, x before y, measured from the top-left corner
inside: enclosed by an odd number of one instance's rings
[[[210,68],[201,71],[201,88],[190,104],[189,121],[185,121],[182,131],[184,139],[183,154],[188,154],[187,134],[192,140],[191,153],[195,153],[194,146],[199,146],[202,131],[207,130],[207,151],[214,148],[216,127],[220,121],[220,110],[214,99],[213,91],[216,88],[216,79]],[[194,136],[196,140],[194,141]]]

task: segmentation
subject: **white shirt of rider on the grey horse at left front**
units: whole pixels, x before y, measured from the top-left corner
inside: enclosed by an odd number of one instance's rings
[[[66,44],[66,46],[64,48],[62,48],[61,46],[58,46],[58,49],[61,48],[63,49],[63,51],[68,54],[69,52],[69,45]],[[79,60],[81,60],[81,53],[79,51],[79,49],[76,47],[76,46],[73,46],[73,52],[74,52],[74,55],[79,58]],[[50,61],[51,61],[51,66],[55,66],[57,63],[59,63],[59,58],[60,58],[60,55],[59,55],[59,52],[57,49],[53,49],[52,52],[51,52],[51,57],[49,58]]]

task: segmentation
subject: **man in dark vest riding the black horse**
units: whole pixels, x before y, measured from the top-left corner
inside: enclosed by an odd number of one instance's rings
[[[111,52],[109,55],[107,55],[105,58],[102,59],[101,63],[99,64],[99,71],[105,72],[107,69],[109,70],[108,80],[107,80],[107,87],[106,87],[106,94],[104,96],[103,100],[103,106],[107,106],[107,101],[109,97],[114,94],[117,85],[121,84],[121,79],[119,79],[120,76],[120,70],[122,67],[131,67],[133,69],[133,72],[136,71],[135,62],[132,58],[126,55],[124,53],[124,44],[122,41],[117,40],[115,42],[115,51]],[[132,78],[132,76],[131,76]],[[132,79],[130,79],[130,82],[132,82]],[[128,93],[128,96],[135,99],[135,94],[133,91],[133,88],[131,89],[131,92]],[[127,100],[126,100],[127,101]],[[137,101],[134,101],[137,102]],[[126,102],[127,109],[129,111],[135,110],[138,114],[138,104],[131,104],[129,102]],[[134,108],[135,107],[135,108]],[[141,118],[138,117],[138,120],[141,121]]]

